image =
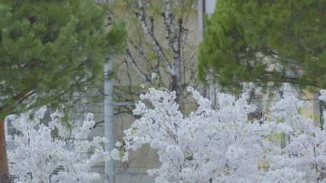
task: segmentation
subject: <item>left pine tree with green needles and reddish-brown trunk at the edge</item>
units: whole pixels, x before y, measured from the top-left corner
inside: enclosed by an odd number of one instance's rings
[[[0,1],[0,182],[9,182],[3,119],[71,103],[123,49],[125,29],[107,31],[107,11],[90,0]]]

